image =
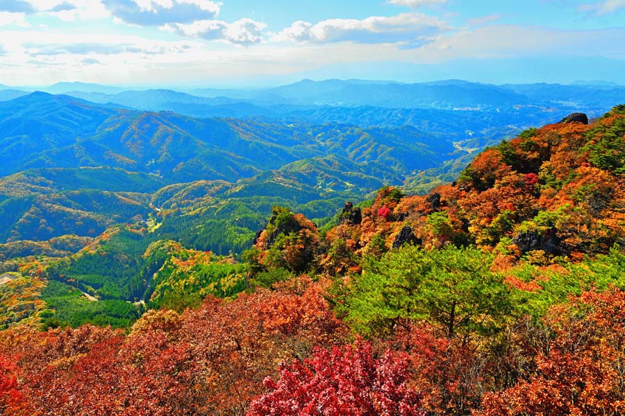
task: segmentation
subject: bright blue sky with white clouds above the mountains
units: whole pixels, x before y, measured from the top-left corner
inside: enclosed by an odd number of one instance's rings
[[[0,0],[0,84],[625,85],[625,0]]]

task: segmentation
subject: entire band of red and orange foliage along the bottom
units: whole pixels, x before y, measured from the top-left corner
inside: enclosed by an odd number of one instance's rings
[[[254,397],[249,415],[315,414],[316,406],[336,415],[467,415],[480,403],[474,415],[625,410],[622,291],[585,293],[553,307],[542,325],[519,319],[494,338],[408,326],[376,347],[335,348],[349,334],[328,305],[328,284],[302,277],[181,314],[150,311],[127,336],[90,326],[3,331],[0,413],[244,416]]]

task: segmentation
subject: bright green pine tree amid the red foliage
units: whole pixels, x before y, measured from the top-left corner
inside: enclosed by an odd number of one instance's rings
[[[379,261],[369,258],[340,309],[365,334],[392,332],[411,320],[435,324],[449,338],[497,331],[512,305],[508,286],[489,270],[492,259],[453,245],[431,251],[408,246]]]

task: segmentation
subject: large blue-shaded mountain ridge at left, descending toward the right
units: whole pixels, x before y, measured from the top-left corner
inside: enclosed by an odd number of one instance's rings
[[[45,93],[1,103],[0,128],[0,155],[9,161],[0,168],[3,175],[23,168],[111,166],[173,182],[233,181],[299,159],[341,154],[353,162],[387,164],[401,176],[453,151],[451,141],[409,127],[194,119]]]

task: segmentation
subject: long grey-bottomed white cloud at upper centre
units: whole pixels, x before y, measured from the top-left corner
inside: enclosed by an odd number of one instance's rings
[[[329,19],[317,24],[296,21],[278,33],[278,40],[331,43],[354,42],[365,44],[397,43],[421,46],[431,42],[449,27],[436,17],[421,13],[403,13],[392,17],[367,19]]]

